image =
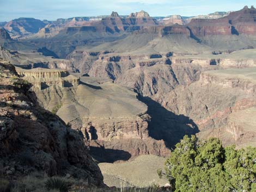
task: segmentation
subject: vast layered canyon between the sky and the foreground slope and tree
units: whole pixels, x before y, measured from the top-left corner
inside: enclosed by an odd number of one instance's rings
[[[31,84],[35,110],[51,114],[60,135],[77,134],[72,137],[79,144],[71,138],[54,146],[65,145],[60,158],[74,156],[68,164],[74,160],[76,169],[84,161],[92,166],[87,174],[94,184],[103,184],[95,162],[168,157],[184,135],[256,146],[253,6],[194,17],[151,17],[142,10],[56,21],[19,18],[2,26],[4,69],[15,66],[12,76]],[[41,121],[54,140],[53,120]],[[79,154],[70,154],[69,144]]]

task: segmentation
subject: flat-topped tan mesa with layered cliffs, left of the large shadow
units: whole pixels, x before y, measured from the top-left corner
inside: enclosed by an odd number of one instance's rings
[[[50,77],[49,80],[65,78],[62,77],[65,72],[57,70],[34,69],[19,73],[32,84],[30,76]],[[84,142],[96,159],[114,162],[140,154],[168,156],[164,142],[149,137],[147,106],[137,100],[133,91],[112,82],[92,84],[88,83],[90,77],[80,78],[77,86],[63,87],[56,83],[40,89],[35,84],[32,89],[42,106],[48,110],[58,107],[57,115],[83,134]],[[38,80],[44,82],[44,78]],[[115,152],[120,152],[120,157],[114,155]]]

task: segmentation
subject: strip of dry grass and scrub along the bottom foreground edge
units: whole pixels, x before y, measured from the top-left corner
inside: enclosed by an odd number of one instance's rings
[[[159,184],[149,184],[149,187],[139,188],[127,185],[122,181],[122,187],[92,187],[87,181],[66,177],[48,177],[43,172],[8,181],[0,178],[0,192],[162,192]]]

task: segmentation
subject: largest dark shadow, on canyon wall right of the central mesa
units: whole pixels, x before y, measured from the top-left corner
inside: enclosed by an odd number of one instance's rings
[[[184,115],[176,115],[150,97],[139,96],[138,99],[148,106],[151,121],[148,125],[149,136],[156,140],[164,140],[169,148],[174,148],[184,135],[193,135],[199,132],[196,123]]]

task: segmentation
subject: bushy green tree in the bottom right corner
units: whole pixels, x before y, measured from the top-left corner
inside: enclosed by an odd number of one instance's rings
[[[166,162],[165,175],[175,192],[256,191],[256,148],[224,148],[220,139],[187,136]]]

